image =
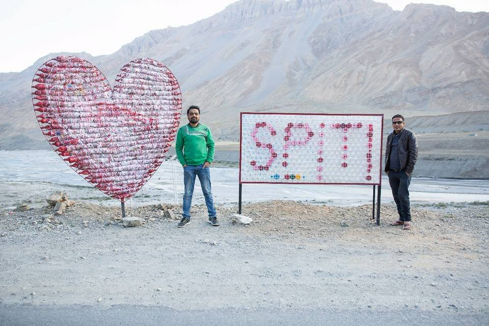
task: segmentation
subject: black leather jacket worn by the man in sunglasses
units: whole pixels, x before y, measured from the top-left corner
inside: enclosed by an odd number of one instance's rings
[[[386,168],[385,172],[389,171],[389,157],[391,156],[392,138],[394,131],[387,137],[386,145]],[[418,159],[418,139],[413,131],[403,128],[399,135],[399,161],[401,163],[401,171],[408,174],[413,173],[414,165]]]

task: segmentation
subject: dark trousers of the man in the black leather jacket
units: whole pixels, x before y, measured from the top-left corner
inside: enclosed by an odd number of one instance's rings
[[[404,222],[411,221],[411,211],[409,204],[409,184],[411,176],[408,176],[404,171],[389,171],[389,184],[392,189],[392,196],[396,202],[399,220]]]

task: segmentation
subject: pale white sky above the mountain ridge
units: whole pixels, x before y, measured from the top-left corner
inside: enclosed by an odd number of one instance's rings
[[[134,38],[192,24],[236,0],[0,0],[0,72],[21,71],[51,52],[110,55]],[[489,12],[489,0],[377,0],[394,10],[409,3]]]

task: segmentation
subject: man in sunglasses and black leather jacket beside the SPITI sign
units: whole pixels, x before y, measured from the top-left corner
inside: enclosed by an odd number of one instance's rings
[[[403,116],[396,114],[392,117],[394,131],[387,137],[385,171],[399,213],[399,220],[391,225],[403,225],[404,230],[409,230],[411,212],[408,188],[418,159],[418,140],[414,132],[404,128],[404,125]]]

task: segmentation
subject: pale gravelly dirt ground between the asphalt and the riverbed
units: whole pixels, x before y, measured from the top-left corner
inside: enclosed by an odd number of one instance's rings
[[[489,320],[487,205],[413,207],[413,229],[381,226],[371,206],[294,201],[244,204],[253,223],[234,223],[236,207],[218,207],[221,226],[193,207],[127,209],[142,227],[124,228],[120,209],[70,206],[45,227],[52,208],[0,211],[0,304],[119,304],[205,310],[416,309],[477,314]],[[172,209],[176,219],[164,217]],[[44,229],[40,231],[40,229]]]

